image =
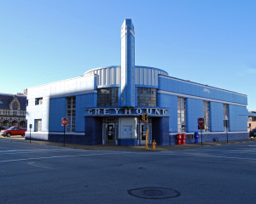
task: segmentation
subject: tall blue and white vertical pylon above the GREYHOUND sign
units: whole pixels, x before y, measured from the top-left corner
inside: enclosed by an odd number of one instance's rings
[[[135,34],[131,19],[121,28],[121,106],[135,107]]]

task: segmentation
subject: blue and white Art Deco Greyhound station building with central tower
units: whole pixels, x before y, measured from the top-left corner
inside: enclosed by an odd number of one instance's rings
[[[227,132],[230,140],[248,138],[247,95],[135,65],[135,31],[129,19],[121,27],[121,65],[27,88],[27,100],[26,139],[63,142],[64,117],[65,140],[71,144],[145,144],[145,129],[148,144],[153,139],[176,144],[177,133],[186,133],[186,142],[193,143],[200,131],[198,118],[205,121],[203,141],[225,140]],[[146,112],[148,122],[143,122],[140,116]]]

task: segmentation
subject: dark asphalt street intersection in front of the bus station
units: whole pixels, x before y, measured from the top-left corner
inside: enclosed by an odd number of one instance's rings
[[[256,143],[79,150],[0,138],[0,203],[255,203]]]

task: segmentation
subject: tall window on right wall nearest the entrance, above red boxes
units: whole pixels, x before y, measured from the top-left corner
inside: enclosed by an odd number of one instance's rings
[[[186,99],[177,97],[177,132],[186,132]]]

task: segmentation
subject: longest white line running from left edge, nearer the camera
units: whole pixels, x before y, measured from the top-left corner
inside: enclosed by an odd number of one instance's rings
[[[129,154],[130,152],[112,152],[112,153],[104,153],[104,154],[90,154],[90,155],[75,155],[75,156],[44,156],[44,157],[33,157],[33,158],[26,158],[26,159],[13,159],[13,160],[3,160],[3,162],[11,162],[11,161],[31,161],[31,160],[46,160],[46,159],[55,159],[55,158],[67,158],[67,157],[79,157],[79,156],[106,156],[106,155],[124,155]]]

